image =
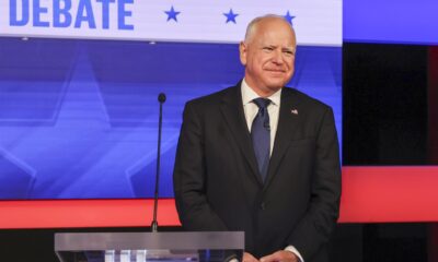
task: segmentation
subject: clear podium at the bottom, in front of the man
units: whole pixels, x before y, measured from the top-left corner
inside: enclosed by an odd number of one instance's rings
[[[223,262],[243,249],[243,231],[55,234],[60,262]]]

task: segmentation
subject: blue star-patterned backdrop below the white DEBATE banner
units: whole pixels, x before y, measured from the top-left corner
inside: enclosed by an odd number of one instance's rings
[[[342,124],[342,48],[300,46],[290,86]],[[152,196],[164,92],[160,195],[185,102],[234,85],[238,45],[0,38],[0,199]]]

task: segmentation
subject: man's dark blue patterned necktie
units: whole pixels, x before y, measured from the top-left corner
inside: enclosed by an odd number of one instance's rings
[[[270,126],[269,114],[267,112],[267,106],[270,104],[270,100],[267,98],[255,98],[253,102],[257,105],[258,112],[251,127],[251,139],[253,141],[258,170],[263,181],[265,181],[267,168],[269,166],[270,152]]]

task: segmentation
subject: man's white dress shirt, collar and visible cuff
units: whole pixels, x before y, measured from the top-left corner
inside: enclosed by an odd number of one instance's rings
[[[253,124],[253,120],[258,112],[258,106],[255,105],[255,103],[253,100],[261,96],[257,95],[257,93],[255,93],[246,84],[244,79],[242,81],[241,92],[242,92],[243,112],[245,115],[247,130],[251,133],[251,127]],[[269,152],[269,155],[272,155],[273,150],[274,150],[275,134],[277,133],[278,117],[279,117],[279,111],[280,111],[281,88],[279,91],[275,92],[273,95],[270,95],[268,97],[264,97],[264,98],[268,98],[270,100],[270,104],[267,107],[267,111],[269,114],[269,126],[270,126],[270,152]],[[293,246],[288,246],[285,248],[285,250],[295,253],[301,262],[304,262],[300,252]]]

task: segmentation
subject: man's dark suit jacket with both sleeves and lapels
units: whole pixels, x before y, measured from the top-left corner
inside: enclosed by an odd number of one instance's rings
[[[338,217],[341,167],[332,109],[284,87],[268,175],[262,182],[240,84],[184,109],[174,191],[187,230],[243,230],[261,258],[292,245],[306,262],[326,261]]]

